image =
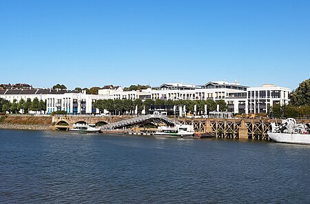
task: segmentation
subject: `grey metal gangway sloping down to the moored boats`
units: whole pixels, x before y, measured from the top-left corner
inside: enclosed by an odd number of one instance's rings
[[[174,119],[169,119],[165,115],[147,114],[147,115],[138,116],[138,117],[135,117],[132,119],[127,119],[127,120],[118,121],[115,123],[103,125],[100,128],[101,128],[101,130],[106,130],[106,129],[122,128],[122,127],[126,127],[128,125],[138,125],[141,123],[149,123],[149,122],[153,122],[153,123],[157,123],[157,124],[158,123],[165,123],[167,125],[180,124],[179,121],[175,121]]]

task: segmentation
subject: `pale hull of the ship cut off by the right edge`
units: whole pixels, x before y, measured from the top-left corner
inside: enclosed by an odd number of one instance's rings
[[[310,134],[290,134],[268,132],[269,137],[278,143],[293,143],[310,145]]]

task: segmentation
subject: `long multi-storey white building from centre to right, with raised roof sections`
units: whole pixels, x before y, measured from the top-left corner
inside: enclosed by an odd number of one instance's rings
[[[113,99],[163,99],[163,100],[224,100],[228,105],[228,111],[234,113],[267,113],[267,107],[274,103],[280,105],[289,102],[289,88],[276,85],[263,85],[258,88],[250,88],[240,85],[236,81],[209,81],[205,85],[185,85],[182,83],[163,83],[156,90],[123,91],[114,90],[110,96]],[[99,90],[100,93],[100,90]]]

